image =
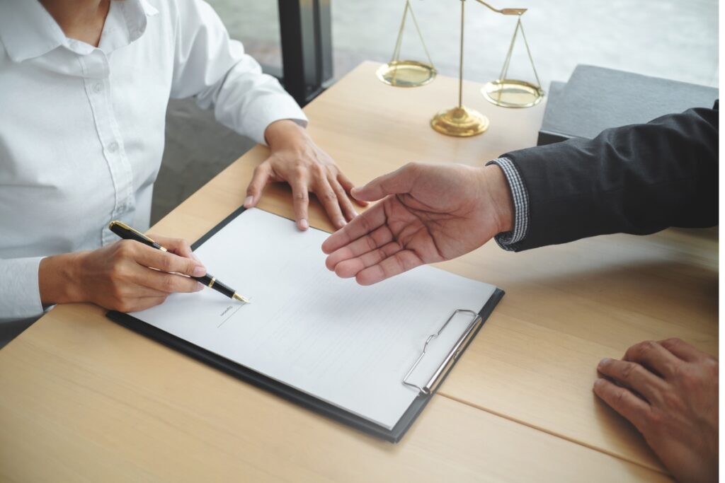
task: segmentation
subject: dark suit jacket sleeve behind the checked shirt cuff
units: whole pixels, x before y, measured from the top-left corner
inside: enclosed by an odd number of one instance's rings
[[[718,111],[689,109],[641,125],[504,154],[529,196],[529,228],[510,248],[718,223]]]

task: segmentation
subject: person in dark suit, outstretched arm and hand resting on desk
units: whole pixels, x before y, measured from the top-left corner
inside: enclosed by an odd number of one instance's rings
[[[595,140],[515,151],[485,168],[408,164],[353,190],[381,201],[323,243],[326,264],[370,285],[468,253],[496,234],[523,250],[610,232],[711,226],[716,114],[692,109]],[[618,384],[597,379],[595,393],[642,432],[676,478],[716,479],[715,359],[665,340],[635,345],[624,361],[605,359],[597,369]]]

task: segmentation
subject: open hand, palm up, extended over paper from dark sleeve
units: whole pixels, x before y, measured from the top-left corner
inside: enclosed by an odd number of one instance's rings
[[[500,167],[411,163],[355,188],[383,200],[323,243],[327,267],[371,285],[422,264],[450,260],[513,227]]]

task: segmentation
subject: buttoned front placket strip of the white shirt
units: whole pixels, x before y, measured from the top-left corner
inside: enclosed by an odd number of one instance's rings
[[[112,219],[123,219],[136,208],[133,194],[133,169],[123,146],[123,138],[115,119],[109,82],[109,62],[103,51],[95,49],[81,59],[86,95],[94,114],[96,132],[114,189]],[[107,226],[99,227],[101,243],[107,245],[118,238]]]

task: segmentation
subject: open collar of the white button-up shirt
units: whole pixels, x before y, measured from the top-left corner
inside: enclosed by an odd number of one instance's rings
[[[159,11],[148,0],[120,1],[131,4],[129,6],[145,15],[142,29],[134,35],[138,38],[146,27],[145,17],[152,17]],[[0,41],[14,62],[33,59],[67,45],[63,30],[38,0],[0,1]]]

